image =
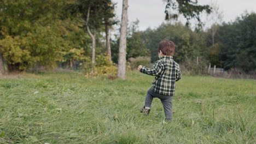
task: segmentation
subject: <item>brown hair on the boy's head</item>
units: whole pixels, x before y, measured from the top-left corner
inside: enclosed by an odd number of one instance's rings
[[[162,51],[162,54],[167,56],[173,56],[175,50],[175,44],[171,40],[162,40],[158,44],[158,52]]]

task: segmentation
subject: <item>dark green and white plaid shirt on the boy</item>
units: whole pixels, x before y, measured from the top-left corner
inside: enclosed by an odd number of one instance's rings
[[[155,76],[152,83],[154,92],[163,95],[174,95],[175,82],[181,79],[179,64],[173,61],[172,56],[162,56],[155,62],[153,68],[142,66],[141,72]]]

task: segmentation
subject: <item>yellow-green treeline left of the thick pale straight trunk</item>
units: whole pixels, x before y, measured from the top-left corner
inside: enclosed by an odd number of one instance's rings
[[[85,69],[95,66],[97,55],[110,46],[102,40],[117,23],[114,16],[110,0],[1,0],[0,60],[8,71],[57,63],[74,67],[75,61]]]

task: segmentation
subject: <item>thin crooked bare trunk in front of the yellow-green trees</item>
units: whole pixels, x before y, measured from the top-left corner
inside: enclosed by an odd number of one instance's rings
[[[87,19],[86,19],[86,27],[87,27],[87,31],[92,39],[92,56],[91,56],[91,73],[94,74],[94,65],[95,65],[95,48],[96,48],[96,29],[94,31],[94,34],[91,33],[90,28],[89,28],[89,17],[90,17],[90,9],[91,7],[89,7],[88,12],[87,12]]]

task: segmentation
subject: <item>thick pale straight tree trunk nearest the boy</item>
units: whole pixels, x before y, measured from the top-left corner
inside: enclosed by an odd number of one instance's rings
[[[123,0],[123,12],[121,21],[121,33],[119,42],[119,56],[118,56],[118,77],[125,79],[126,70],[126,32],[127,32],[127,10],[128,0]]]

